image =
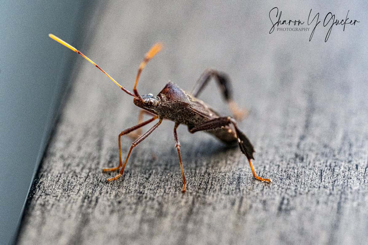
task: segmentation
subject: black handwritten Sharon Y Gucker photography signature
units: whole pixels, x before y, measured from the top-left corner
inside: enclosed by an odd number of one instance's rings
[[[301,25],[304,25],[305,21],[301,21],[300,19],[294,19],[294,20],[282,20],[281,19],[281,14],[282,14],[282,11],[280,11],[279,13],[279,8],[275,7],[275,8],[272,8],[272,10],[270,10],[269,12],[269,17],[270,17],[270,20],[271,20],[271,23],[272,23],[272,27],[270,29],[270,34],[275,30],[275,26],[280,26],[280,25],[294,25],[294,26],[301,26]],[[309,42],[312,40],[312,37],[314,35],[314,31],[316,30],[316,27],[318,26],[319,23],[321,23],[321,21],[318,21],[319,19],[319,12],[313,17],[311,17],[311,14],[312,14],[312,9],[311,11],[309,11],[309,15],[308,15],[308,20],[307,20],[307,25],[314,25],[314,28],[311,32],[311,35],[309,36]],[[326,34],[326,37],[325,37],[325,42],[327,42],[330,34],[331,34],[331,30],[332,30],[332,27],[333,26],[338,26],[338,25],[343,25],[344,28],[343,28],[343,31],[345,30],[345,25],[346,24],[350,24],[350,25],[354,25],[360,21],[357,21],[356,19],[354,19],[354,21],[352,19],[350,19],[349,21],[349,18],[348,18],[348,14],[349,14],[349,10],[347,11],[347,14],[346,14],[346,17],[345,19],[337,19],[336,16],[334,14],[332,14],[332,12],[329,12],[328,14],[326,14],[326,17],[325,19],[323,20],[323,26],[326,27],[327,25],[329,25],[329,29],[327,31],[327,34]],[[278,19],[277,19],[278,18]],[[312,25],[312,26],[313,26]],[[309,28],[308,28],[309,30]]]

